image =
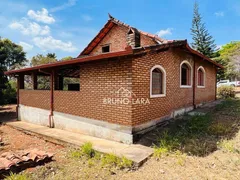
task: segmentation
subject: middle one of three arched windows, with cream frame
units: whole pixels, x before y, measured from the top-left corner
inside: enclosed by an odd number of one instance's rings
[[[180,65],[180,86],[192,87],[192,66],[188,61],[183,61]]]

